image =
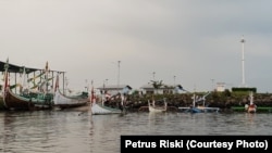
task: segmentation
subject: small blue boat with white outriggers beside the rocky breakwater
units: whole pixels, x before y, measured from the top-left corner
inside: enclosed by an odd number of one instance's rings
[[[178,107],[178,110],[181,112],[189,112],[189,113],[218,113],[220,111],[219,107],[209,107],[206,106],[205,102],[206,102],[206,97],[209,95],[210,92],[208,92],[207,94],[198,98],[195,93],[193,94],[191,99],[193,99],[193,104],[190,106],[187,107]],[[202,105],[199,105],[197,103],[202,102]]]

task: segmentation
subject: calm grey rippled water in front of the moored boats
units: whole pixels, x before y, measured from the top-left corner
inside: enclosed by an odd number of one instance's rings
[[[120,153],[121,135],[272,135],[271,113],[0,112],[0,152]]]

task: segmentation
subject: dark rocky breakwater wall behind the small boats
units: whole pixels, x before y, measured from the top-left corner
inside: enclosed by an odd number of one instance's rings
[[[196,93],[198,98],[206,93]],[[132,94],[127,95],[126,106],[131,111],[136,111],[141,106],[148,106],[148,101],[156,100],[157,105],[163,105],[163,99],[166,100],[169,107],[189,106],[193,104],[193,93],[180,94]],[[255,93],[254,102],[257,106],[272,107],[272,93]],[[220,107],[221,110],[230,110],[232,106],[245,106],[249,104],[248,93],[233,93],[233,92],[211,92],[197,104],[211,107]]]

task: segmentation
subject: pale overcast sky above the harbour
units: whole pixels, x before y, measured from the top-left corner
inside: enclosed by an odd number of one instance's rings
[[[0,0],[0,60],[84,89],[150,80],[272,92],[271,0]],[[244,50],[240,42],[244,36]],[[119,63],[120,61],[120,63]]]

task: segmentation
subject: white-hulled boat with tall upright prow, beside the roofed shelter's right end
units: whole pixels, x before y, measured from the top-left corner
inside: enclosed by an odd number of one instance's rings
[[[79,94],[67,95],[60,91],[59,89],[59,74],[57,75],[53,105],[58,109],[73,109],[79,106],[86,106],[89,104],[88,92],[82,91]]]

